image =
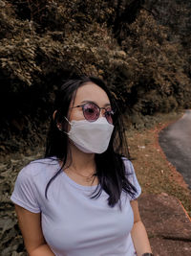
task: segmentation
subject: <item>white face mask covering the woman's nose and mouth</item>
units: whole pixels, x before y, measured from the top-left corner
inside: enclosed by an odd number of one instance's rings
[[[70,125],[67,134],[77,149],[86,153],[102,153],[107,150],[114,126],[105,117],[95,122],[73,120]]]

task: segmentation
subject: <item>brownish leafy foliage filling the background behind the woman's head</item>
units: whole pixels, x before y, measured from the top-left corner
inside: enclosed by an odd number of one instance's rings
[[[172,34],[178,24],[154,2],[1,0],[3,123],[46,120],[53,90],[73,74],[103,78],[130,115],[190,107],[188,33]],[[187,17],[185,2],[173,7]]]

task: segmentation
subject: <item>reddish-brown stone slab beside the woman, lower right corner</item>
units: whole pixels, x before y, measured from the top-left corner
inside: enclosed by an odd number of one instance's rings
[[[191,251],[191,221],[178,198],[165,193],[143,194],[138,204],[155,256],[188,256]]]

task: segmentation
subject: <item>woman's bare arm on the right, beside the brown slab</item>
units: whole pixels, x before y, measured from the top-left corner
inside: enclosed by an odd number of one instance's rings
[[[134,226],[131,235],[137,254],[138,256],[141,256],[145,252],[152,253],[146,229],[144,227],[144,224],[140,220],[140,215],[138,211],[138,200],[132,200],[131,206],[134,212]]]

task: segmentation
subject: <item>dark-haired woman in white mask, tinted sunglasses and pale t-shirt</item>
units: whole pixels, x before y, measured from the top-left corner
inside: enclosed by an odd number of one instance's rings
[[[62,85],[45,158],[21,170],[11,195],[31,256],[152,255],[123,131],[103,81]]]

